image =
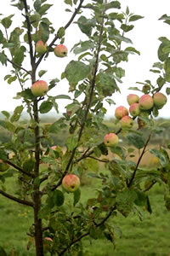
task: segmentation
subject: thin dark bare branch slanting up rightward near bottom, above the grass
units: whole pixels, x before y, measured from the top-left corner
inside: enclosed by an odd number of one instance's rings
[[[111,217],[111,214],[112,214],[115,210],[116,210],[116,207],[112,207],[112,208],[111,208],[111,211],[105,216],[105,218],[103,218],[102,221],[99,222],[99,224],[95,224],[95,226],[96,226],[96,227],[99,227],[99,226],[105,224],[105,221],[106,221],[108,218]],[[81,241],[82,238],[85,237],[85,236],[88,236],[89,233],[90,233],[90,232],[88,231],[88,232],[82,234],[82,236],[79,236],[77,239],[71,241],[71,243],[68,245],[68,247],[65,247],[65,249],[64,249],[61,253],[59,253],[59,256],[64,255],[65,252],[66,252],[73,244],[77,243],[77,241]]]

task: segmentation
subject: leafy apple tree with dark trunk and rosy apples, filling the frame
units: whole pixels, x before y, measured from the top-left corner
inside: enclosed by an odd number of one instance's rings
[[[48,0],[11,0],[20,12],[20,26],[14,27],[14,15],[1,19],[0,61],[11,69],[4,80],[8,84],[18,82],[20,91],[15,98],[22,103],[13,114],[2,111],[4,119],[0,125],[10,133],[11,139],[0,145],[0,195],[34,212],[27,248],[35,246],[37,256],[83,255],[84,237],[93,240],[102,235],[114,244],[117,230],[111,219],[117,214],[127,217],[130,212],[136,212],[141,219],[141,207],[151,212],[146,192],[155,183],[164,185],[165,203],[170,209],[167,149],[150,149],[160,161],[159,168],[149,170],[139,165],[152,135],[166,127],[156,126],[154,118],[167,102],[161,89],[170,81],[170,41],[160,38],[160,62],[152,69],[159,73],[156,84],[145,80],[139,87],[131,88],[142,96],[128,96],[131,110],[117,107],[115,128],[111,130],[104,123],[107,113],[104,103],[115,104],[114,93],[121,93],[125,76],[122,62],[128,61],[131,54],[139,55],[127,33],[143,17],[134,15],[128,8],[122,11],[121,1],[64,2],[65,11],[71,16],[57,30],[57,20],[53,24],[48,16],[48,10],[54,8]],[[167,15],[161,19],[170,23]],[[68,94],[51,95],[51,90],[59,92],[56,87],[59,79],[48,77],[48,70],[41,69],[41,65],[46,63],[50,67],[50,55],[56,55],[53,63],[56,66],[61,58],[69,55],[65,38],[73,22],[86,39],[75,42],[71,49],[75,58],[59,78],[68,84]],[[45,76],[48,79],[43,79]],[[43,124],[40,114],[50,113],[54,108],[57,116],[62,99],[70,101],[62,117],[52,124]],[[29,114],[24,125],[20,122],[23,111]],[[65,128],[69,135],[65,148],[61,148],[54,145],[51,135]],[[119,137],[123,144],[119,143]],[[137,162],[132,157],[135,148],[139,150]],[[101,162],[105,172],[99,170]],[[84,172],[88,172],[93,182],[101,181],[97,195],[86,202],[81,201]],[[8,177],[20,181],[20,193],[8,192]],[[70,194],[72,201],[68,203]],[[7,255],[6,248],[1,250]]]

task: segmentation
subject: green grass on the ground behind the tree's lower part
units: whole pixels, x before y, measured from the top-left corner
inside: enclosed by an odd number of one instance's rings
[[[92,184],[82,186],[82,200],[93,196],[92,187],[97,188],[95,179]],[[13,179],[8,179],[8,189],[13,190]],[[118,214],[111,224],[120,227],[122,238],[116,235],[116,248],[110,241],[83,239],[86,256],[169,256],[170,255],[170,212],[163,203],[162,189],[155,185],[147,192],[150,195],[152,214],[144,213],[144,220],[131,213],[127,218]],[[35,256],[31,248],[26,250],[29,227],[32,224],[33,212],[30,207],[24,207],[9,201],[0,195],[0,246],[8,255],[14,248],[14,256]]]

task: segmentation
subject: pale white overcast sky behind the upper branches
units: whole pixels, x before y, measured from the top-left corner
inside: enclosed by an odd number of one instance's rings
[[[88,0],[86,0],[87,2]],[[27,1],[28,3],[32,3],[31,0]],[[150,68],[153,63],[158,61],[157,58],[157,49],[159,47],[160,41],[158,38],[164,36],[169,37],[169,29],[166,23],[163,23],[162,20],[158,20],[161,15],[170,15],[167,13],[167,10],[170,7],[170,3],[167,0],[121,0],[122,11],[125,11],[127,6],[131,13],[135,15],[144,16],[144,19],[135,21],[134,28],[132,32],[127,32],[126,37],[131,38],[133,41],[133,46],[135,49],[140,51],[140,55],[130,55],[129,61],[124,62],[121,67],[125,68],[126,76],[122,79],[122,84],[120,84],[120,88],[122,90],[122,94],[116,93],[111,98],[116,102],[115,105],[108,105],[105,103],[105,108],[107,108],[107,114],[111,117],[114,117],[115,108],[117,106],[123,105],[128,107],[127,105],[127,95],[129,93],[139,94],[138,91],[127,90],[129,87],[137,86],[136,82],[144,82],[146,79],[150,79],[153,84],[156,83],[156,79],[158,76],[154,73],[150,73]],[[53,21],[54,28],[57,30],[60,26],[65,26],[67,20],[69,20],[71,14],[65,13],[64,9],[65,3],[64,0],[50,0],[48,3],[53,3],[54,7],[50,9],[49,19]],[[89,3],[89,1],[88,1]],[[1,6],[0,13],[3,14],[1,17],[5,17],[11,14],[15,14],[14,17],[14,25],[20,25],[20,18],[17,15],[20,13],[16,12],[14,7],[10,7],[10,0],[3,1],[3,5]],[[2,27],[1,27],[2,29]],[[65,45],[69,49],[68,57],[65,58],[57,58],[53,54],[50,55],[48,61],[44,61],[40,69],[48,69],[48,73],[42,77],[43,79],[60,79],[60,73],[65,70],[66,65],[72,59],[77,60],[77,56],[73,55],[70,50],[74,44],[83,39],[87,39],[82,33],[79,32],[76,25],[70,26],[66,30],[65,34]],[[20,91],[20,85],[18,83],[7,84],[6,81],[3,80],[4,76],[9,73],[11,67],[0,66],[1,76],[0,76],[0,84],[1,84],[1,94],[0,94],[0,111],[7,110],[13,111],[14,108],[20,104],[22,104],[19,100],[13,99],[18,91]],[[51,90],[53,95],[66,94],[68,90],[68,83],[64,79],[59,85],[57,85],[54,90]],[[162,90],[162,92],[164,92]],[[49,93],[50,94],[50,93]],[[141,94],[139,94],[140,96]],[[62,102],[61,102],[62,101]],[[65,112],[65,104],[68,103],[64,100],[59,100],[59,111]],[[169,109],[168,106],[170,104],[170,99],[167,101],[167,105],[160,110],[160,116],[164,118],[169,118]]]

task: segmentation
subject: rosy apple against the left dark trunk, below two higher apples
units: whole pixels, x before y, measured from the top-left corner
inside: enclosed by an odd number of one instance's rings
[[[44,96],[47,92],[48,84],[43,80],[39,80],[31,85],[31,93],[34,96]]]

